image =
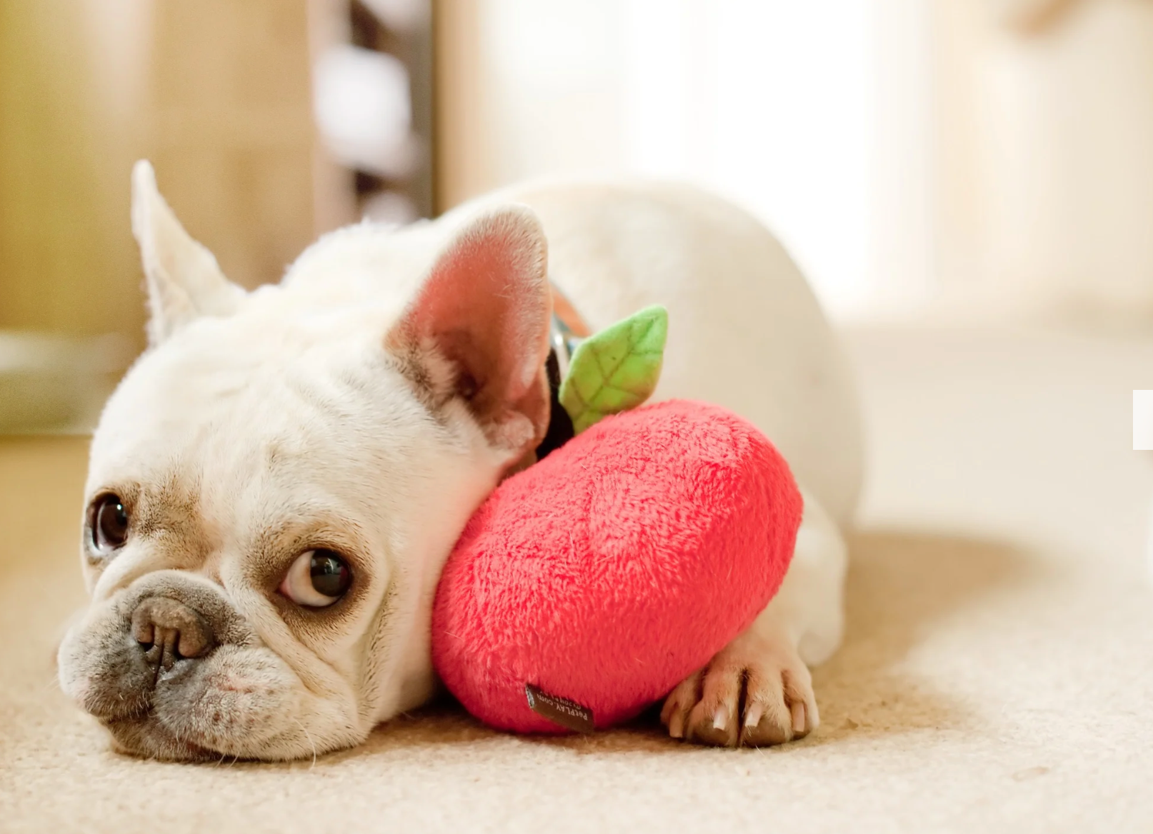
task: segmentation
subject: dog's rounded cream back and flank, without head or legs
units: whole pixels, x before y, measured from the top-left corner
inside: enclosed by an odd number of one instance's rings
[[[715,402],[752,420],[842,525],[861,482],[860,415],[841,346],[789,255],[753,217],[686,185],[541,184],[480,205],[533,208],[549,278],[594,331],[669,310],[655,399]]]

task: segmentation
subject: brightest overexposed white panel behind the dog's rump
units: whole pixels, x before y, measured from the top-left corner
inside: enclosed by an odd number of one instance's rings
[[[826,303],[868,301],[875,35],[864,0],[630,0],[623,162],[744,204]]]

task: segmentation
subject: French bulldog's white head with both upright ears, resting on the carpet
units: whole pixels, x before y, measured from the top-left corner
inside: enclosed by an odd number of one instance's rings
[[[545,431],[543,233],[352,227],[248,294],[146,164],[133,200],[150,347],[92,441],[62,688],[143,756],[355,744],[430,693],[443,562]]]

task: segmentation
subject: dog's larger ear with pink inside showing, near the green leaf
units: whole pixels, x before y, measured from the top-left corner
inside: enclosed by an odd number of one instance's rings
[[[461,397],[502,449],[536,448],[549,423],[548,253],[530,208],[510,204],[466,223],[389,333],[431,400]]]

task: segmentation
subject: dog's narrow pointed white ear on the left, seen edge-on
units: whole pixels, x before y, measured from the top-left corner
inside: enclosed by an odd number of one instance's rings
[[[148,283],[149,343],[157,346],[199,316],[229,316],[244,290],[220,272],[194,241],[156,187],[148,160],[133,168],[133,234]]]

